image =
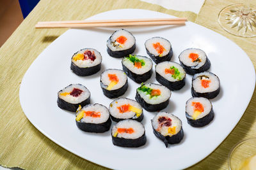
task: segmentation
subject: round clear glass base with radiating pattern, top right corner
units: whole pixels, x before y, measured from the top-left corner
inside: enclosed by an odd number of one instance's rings
[[[256,36],[256,6],[248,3],[231,4],[223,8],[218,22],[225,31],[235,36]]]

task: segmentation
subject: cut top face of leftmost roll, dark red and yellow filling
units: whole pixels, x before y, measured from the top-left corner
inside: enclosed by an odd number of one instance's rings
[[[86,87],[80,84],[69,85],[58,93],[60,99],[68,103],[77,104],[90,97],[90,92]]]

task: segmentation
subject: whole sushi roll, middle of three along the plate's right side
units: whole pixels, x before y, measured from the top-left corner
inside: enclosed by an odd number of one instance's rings
[[[195,74],[192,78],[191,93],[193,97],[213,99],[220,93],[220,79],[207,71]]]

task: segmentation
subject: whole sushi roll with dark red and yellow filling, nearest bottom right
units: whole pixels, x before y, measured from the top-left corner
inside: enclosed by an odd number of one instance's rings
[[[151,120],[151,123],[154,134],[164,142],[166,148],[168,143],[180,143],[183,139],[182,122],[178,117],[170,113],[160,112]]]

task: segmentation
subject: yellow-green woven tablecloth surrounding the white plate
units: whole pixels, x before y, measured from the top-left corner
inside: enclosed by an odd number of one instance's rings
[[[256,5],[253,0],[250,2]],[[159,11],[177,17],[187,17],[196,24],[226,36],[243,48],[255,66],[256,38],[232,36],[223,31],[218,24],[219,11],[234,3],[240,3],[240,1],[206,0],[200,13],[196,15],[189,11],[166,10],[156,4],[138,0],[41,0],[0,48],[0,164],[5,167],[21,167],[22,169],[106,169],[77,157],[46,138],[33,127],[20,107],[19,87],[26,70],[54,39],[67,31],[67,29],[35,29],[36,22],[83,20],[97,13],[121,8]],[[246,77],[250,78],[250,75]],[[254,92],[239,124],[225,141],[211,155],[189,169],[228,169],[227,157],[232,146],[243,139],[255,137],[255,100]]]

